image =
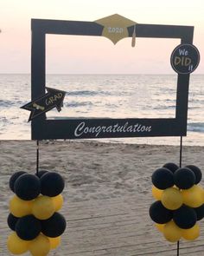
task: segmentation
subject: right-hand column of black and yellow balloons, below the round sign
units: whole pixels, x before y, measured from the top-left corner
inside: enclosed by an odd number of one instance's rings
[[[197,220],[204,217],[204,190],[198,185],[201,178],[199,167],[178,167],[172,162],[152,174],[152,195],[156,201],[150,206],[150,218],[166,240],[199,237]]]

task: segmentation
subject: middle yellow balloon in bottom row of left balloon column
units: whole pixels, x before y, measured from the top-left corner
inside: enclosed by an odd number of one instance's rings
[[[39,234],[35,240],[31,240],[29,244],[29,252],[33,256],[46,256],[50,250],[50,243],[48,237]]]

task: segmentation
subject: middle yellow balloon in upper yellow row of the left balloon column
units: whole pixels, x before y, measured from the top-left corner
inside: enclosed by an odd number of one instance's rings
[[[34,200],[32,213],[39,220],[47,220],[54,214],[54,202],[51,197],[40,195]]]

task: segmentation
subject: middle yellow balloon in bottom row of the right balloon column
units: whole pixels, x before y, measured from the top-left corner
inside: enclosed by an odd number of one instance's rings
[[[163,235],[166,240],[175,243],[181,239],[182,230],[175,225],[175,222],[173,220],[171,220],[163,227]]]

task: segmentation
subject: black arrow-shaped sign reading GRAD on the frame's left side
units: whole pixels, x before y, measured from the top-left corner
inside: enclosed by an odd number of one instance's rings
[[[66,92],[59,89],[52,89],[48,87],[46,87],[46,89],[48,91],[47,94],[21,107],[23,109],[31,111],[29,115],[29,121],[34,119],[36,116],[48,112],[53,108],[57,108],[59,112],[61,111],[61,107],[63,107],[63,100],[66,95]]]

